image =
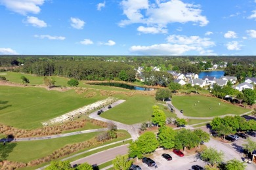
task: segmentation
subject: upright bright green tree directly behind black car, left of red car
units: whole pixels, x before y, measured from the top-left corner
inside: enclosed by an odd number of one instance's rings
[[[163,148],[173,148],[175,146],[176,131],[171,127],[162,126],[159,129],[158,142]]]

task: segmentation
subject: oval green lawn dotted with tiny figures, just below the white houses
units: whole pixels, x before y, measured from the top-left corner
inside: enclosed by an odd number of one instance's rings
[[[211,117],[224,114],[239,115],[250,111],[250,109],[237,107],[231,103],[224,103],[216,97],[205,97],[203,95],[175,95],[171,102],[174,107],[183,110],[185,116],[192,117]]]

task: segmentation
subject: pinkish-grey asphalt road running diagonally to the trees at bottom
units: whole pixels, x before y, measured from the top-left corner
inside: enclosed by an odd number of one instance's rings
[[[124,144],[122,146],[118,146],[116,148],[110,148],[108,150],[104,150],[102,152],[98,152],[96,154],[87,156],[85,158],[81,158],[76,161],[72,161],[71,165],[79,164],[79,163],[89,163],[89,164],[102,164],[105,163],[106,161],[114,160],[116,156],[118,155],[124,155],[128,153],[128,146],[129,144]]]

